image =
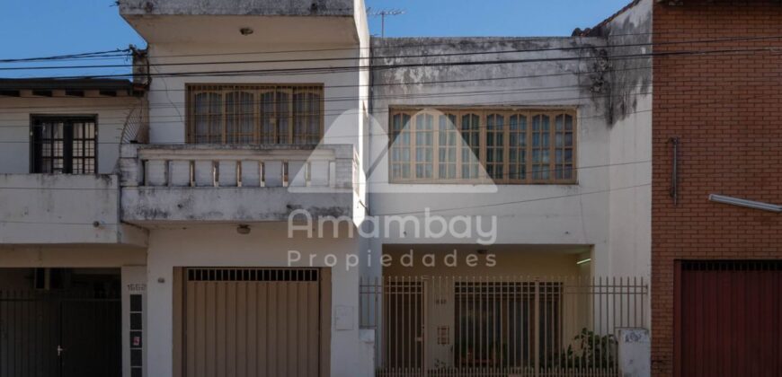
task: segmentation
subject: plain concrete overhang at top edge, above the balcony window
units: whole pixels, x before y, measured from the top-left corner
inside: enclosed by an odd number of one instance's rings
[[[120,0],[118,4],[120,15],[150,44],[355,43],[366,32],[355,21],[364,13],[363,3],[355,0]],[[202,27],[205,23],[209,28]]]

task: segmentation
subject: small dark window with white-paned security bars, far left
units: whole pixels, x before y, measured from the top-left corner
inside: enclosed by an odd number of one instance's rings
[[[33,117],[31,172],[93,174],[97,171],[96,118]]]

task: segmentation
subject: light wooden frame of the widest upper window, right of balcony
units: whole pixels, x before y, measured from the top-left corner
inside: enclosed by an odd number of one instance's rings
[[[409,139],[410,139],[410,145],[406,145],[405,147],[409,148],[410,153],[410,161],[407,161],[406,164],[409,164],[409,171],[410,174],[407,177],[399,177],[395,174],[394,167],[399,165],[404,165],[405,162],[399,162],[395,161],[394,153],[395,150],[395,137],[399,133],[399,130],[394,129],[394,118],[396,115],[404,114],[410,117],[410,121],[407,125],[402,125],[401,130],[402,132],[409,133]],[[431,172],[431,179],[422,179],[422,178],[416,178],[416,171],[415,166],[416,164],[420,164],[416,161],[415,151],[416,151],[416,137],[415,134],[418,130],[417,125],[417,118],[420,114],[431,114],[434,118],[434,127],[433,127],[433,145],[432,149],[434,151],[434,156],[432,159],[432,172]],[[478,116],[479,119],[479,139],[478,139],[478,161],[480,162],[481,166],[484,167],[483,171],[486,171],[486,174],[484,177],[477,177],[477,178],[464,178],[463,177],[463,171],[462,168],[464,166],[463,160],[463,151],[465,150],[465,146],[467,145],[467,142],[464,139],[463,136],[463,116],[467,114],[475,114]],[[548,130],[547,130],[547,137],[548,137],[548,145],[546,147],[546,151],[548,153],[548,161],[547,161],[547,178],[533,178],[533,161],[532,161],[532,118],[535,116],[547,116],[548,117]],[[461,136],[461,138],[457,140],[456,145],[456,177],[453,179],[449,178],[440,178],[440,147],[449,145],[440,145],[440,116],[455,116],[457,122],[453,125],[453,127],[458,132],[458,136]],[[501,173],[498,178],[491,178],[488,175],[488,169],[486,169],[487,166],[487,153],[489,153],[489,149],[487,148],[487,118],[489,116],[501,116],[502,117],[502,162],[500,163],[494,163],[494,166],[498,167],[499,172]],[[523,131],[520,130],[513,130],[511,131],[511,117],[512,116],[523,116],[526,119],[526,125],[525,129]],[[572,118],[572,128],[569,130],[564,129],[565,125],[565,118],[566,116],[569,116]],[[557,117],[563,117],[563,128],[561,130],[557,130],[556,128],[556,119]],[[523,164],[520,163],[520,155],[516,156],[516,161],[514,162],[519,167],[524,167],[524,177],[511,177],[511,134],[512,133],[521,133],[523,132],[525,143],[523,145],[523,148],[520,148],[521,151],[524,153],[524,162]],[[562,133],[562,139],[563,139],[563,145],[557,146],[556,145],[556,136],[557,133]],[[564,145],[564,139],[565,134],[570,133],[572,134],[572,143],[571,145],[567,146]],[[424,109],[424,108],[407,108],[407,107],[395,107],[391,108],[388,111],[388,134],[389,134],[389,156],[388,156],[388,176],[389,181],[391,183],[416,183],[416,184],[502,184],[502,185],[536,185],[536,184],[547,184],[547,185],[573,185],[578,183],[578,164],[577,164],[577,156],[578,156],[578,116],[577,111],[572,108],[551,108],[551,109],[510,109],[510,108],[438,108],[438,109]],[[564,155],[565,150],[569,151],[571,153],[571,161],[570,162],[564,162]],[[560,151],[562,153],[562,162],[556,161],[556,154],[557,151]],[[565,169],[569,167],[571,171],[570,178],[564,178],[564,171]],[[562,178],[557,178],[557,174],[559,171],[563,171]],[[481,174],[479,174],[481,175]]]

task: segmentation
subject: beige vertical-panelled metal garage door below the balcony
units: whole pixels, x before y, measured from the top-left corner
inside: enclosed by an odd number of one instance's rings
[[[181,268],[178,375],[326,375],[327,270]],[[328,329],[326,326],[325,329]]]

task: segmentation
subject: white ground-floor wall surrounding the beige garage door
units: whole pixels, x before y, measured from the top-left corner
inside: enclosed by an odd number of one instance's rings
[[[335,329],[332,311],[331,375],[354,375],[362,362],[356,358],[360,352],[359,270],[346,270],[343,261],[348,253],[359,252],[359,241],[346,234],[337,239],[295,235],[288,238],[287,224],[254,224],[247,235],[238,234],[232,225],[152,231],[147,260],[147,318],[154,319],[148,321],[147,329],[149,375],[167,376],[173,372],[173,267],[289,267],[289,250],[302,254],[302,263],[294,267],[310,267],[309,254],[317,256],[313,267],[328,267],[324,262],[328,254],[340,260],[332,268],[332,308],[351,308],[353,326],[349,330]],[[159,282],[161,279],[163,283]]]

